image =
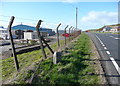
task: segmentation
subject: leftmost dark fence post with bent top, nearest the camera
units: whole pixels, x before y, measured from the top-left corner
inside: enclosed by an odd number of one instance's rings
[[[13,57],[14,57],[14,62],[15,62],[15,66],[16,66],[16,70],[19,71],[19,63],[17,60],[17,55],[15,52],[15,46],[14,46],[14,42],[13,42],[13,38],[12,38],[12,32],[11,32],[11,26],[13,24],[15,17],[12,16],[8,25],[8,30],[9,30],[9,37],[10,37],[10,42],[11,42],[11,46],[12,46],[12,53],[13,53]]]

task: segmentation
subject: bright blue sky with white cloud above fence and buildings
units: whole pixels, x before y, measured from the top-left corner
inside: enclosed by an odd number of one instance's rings
[[[78,8],[78,29],[98,29],[104,25],[118,23],[118,2],[0,2],[0,26],[7,27],[10,17],[15,16],[13,26],[25,24],[60,29],[67,25],[75,27]]]

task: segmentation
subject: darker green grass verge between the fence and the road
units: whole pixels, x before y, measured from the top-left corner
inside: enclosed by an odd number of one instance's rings
[[[94,64],[85,60],[91,56],[89,37],[83,33],[71,46],[58,64],[51,58],[41,62],[32,84],[99,84]]]

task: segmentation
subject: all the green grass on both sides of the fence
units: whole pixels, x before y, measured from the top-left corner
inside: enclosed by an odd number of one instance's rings
[[[64,40],[60,41],[61,46]],[[57,43],[52,49],[57,50]],[[45,48],[47,55],[50,51]],[[99,84],[99,76],[96,75],[95,65],[88,61],[91,59],[91,43],[89,37],[82,33],[77,41],[70,45],[70,48],[63,50],[61,61],[53,64],[52,58],[43,59],[41,50],[18,55],[20,72],[17,73],[13,57],[2,61],[3,81],[15,84]]]

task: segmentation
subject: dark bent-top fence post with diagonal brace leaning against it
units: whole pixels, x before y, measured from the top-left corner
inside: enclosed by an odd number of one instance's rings
[[[36,26],[36,31],[37,31],[37,35],[38,35],[38,39],[39,39],[39,42],[40,42],[40,47],[41,47],[41,49],[42,49],[42,53],[43,53],[44,59],[46,59],[47,56],[46,56],[46,53],[45,53],[45,50],[44,50],[44,47],[43,47],[41,33],[40,33],[40,31],[39,31],[41,22],[43,22],[43,21],[42,21],[42,20],[39,20],[39,21],[38,21],[37,26]]]

